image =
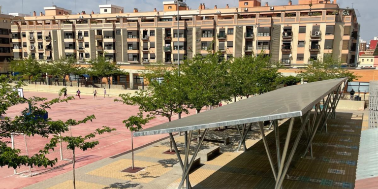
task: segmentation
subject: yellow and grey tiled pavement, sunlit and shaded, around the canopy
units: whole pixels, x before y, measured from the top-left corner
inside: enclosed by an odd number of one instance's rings
[[[285,189],[352,189],[355,181],[356,161],[363,113],[337,113],[329,120],[328,134],[317,133],[314,139],[314,159],[301,158],[305,136],[297,148],[284,181]],[[296,119],[289,149],[295,140],[300,121]],[[283,149],[288,122],[280,126]],[[235,129],[210,130],[209,135],[229,135],[231,144],[204,142],[202,148],[221,146],[221,155],[202,164],[189,175],[194,189],[272,189],[274,178],[259,131],[256,127],[246,141],[248,151],[235,152],[239,136]],[[274,133],[266,131],[269,148],[274,158],[276,148]],[[193,137],[194,138],[194,137]],[[184,137],[176,136],[179,150],[183,152]],[[191,153],[196,141],[192,141]],[[135,166],[144,167],[137,173],[125,173],[130,167],[131,155],[106,158],[76,170],[77,189],[177,189],[181,176],[172,174],[178,162],[176,155],[162,154],[169,149],[169,139],[135,152]],[[183,156],[182,156],[183,157]],[[34,184],[25,189],[72,189],[72,172]]]

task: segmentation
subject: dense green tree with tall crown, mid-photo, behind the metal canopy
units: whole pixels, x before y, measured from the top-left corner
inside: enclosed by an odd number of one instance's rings
[[[204,106],[213,106],[230,100],[228,71],[230,61],[221,58],[219,52],[206,57],[199,54],[183,61],[181,83],[184,86],[189,108],[199,113]]]

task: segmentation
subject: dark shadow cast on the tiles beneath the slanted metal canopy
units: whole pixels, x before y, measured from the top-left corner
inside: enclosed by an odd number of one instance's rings
[[[362,127],[362,115],[336,113],[337,119],[328,120],[328,133],[319,131],[313,140],[314,158],[303,157],[307,137],[303,134],[283,182],[284,189],[353,189]],[[314,112],[311,115],[314,116]],[[300,128],[296,118],[289,150]],[[279,127],[280,146],[284,148],[290,121]],[[275,133],[266,136],[272,160],[277,164]],[[287,157],[288,158],[288,154]],[[263,140],[231,160],[193,189],[274,189]]]

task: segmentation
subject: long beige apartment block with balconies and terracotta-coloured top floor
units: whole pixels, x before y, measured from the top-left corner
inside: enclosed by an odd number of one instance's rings
[[[360,26],[355,11],[339,7],[336,0],[289,0],[279,6],[239,0],[238,7],[211,8],[189,8],[179,0],[179,19],[175,1],[163,1],[163,7],[125,13],[120,6],[99,5],[99,13],[90,14],[44,7],[44,14],[34,11],[13,23],[12,42],[21,47],[13,48],[14,58],[31,55],[52,61],[75,56],[85,64],[105,55],[130,73],[151,62],[175,64],[215,51],[227,59],[263,52],[292,67],[328,53],[349,65],[357,60]]]

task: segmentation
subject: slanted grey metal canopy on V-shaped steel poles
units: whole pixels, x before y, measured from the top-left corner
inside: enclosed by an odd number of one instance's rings
[[[134,133],[134,136],[145,136],[154,134],[169,133],[173,142],[176,155],[179,159],[183,175],[178,189],[182,189],[185,180],[187,188],[191,188],[189,182],[189,170],[193,164],[201,144],[208,132],[209,128],[220,126],[236,126],[240,134],[240,149],[245,144],[245,138],[250,130],[252,123],[257,123],[265,146],[265,150],[272,168],[274,178],[276,180],[275,189],[281,189],[284,176],[290,166],[302,133],[307,130],[307,147],[303,152],[304,155],[313,156],[312,141],[318,129],[320,132],[325,129],[327,132],[327,119],[336,118],[336,106],[339,103],[343,92],[343,87],[347,82],[347,78],[331,79],[319,81],[303,85],[295,85],[284,87],[263,95],[257,95],[248,99],[237,101],[232,104],[222,106],[210,111],[194,114],[183,119],[164,123],[158,126],[150,127]],[[311,111],[315,109],[314,116],[310,117]],[[291,133],[294,126],[295,117],[300,117],[301,127],[297,134],[295,142],[292,146],[289,156],[288,147]],[[284,150],[281,154],[279,145],[279,127],[278,120],[290,118],[290,125],[285,139]],[[312,119],[311,119],[312,118]],[[263,122],[270,121],[270,126],[274,127],[276,134],[277,146],[277,165],[273,162],[272,155],[269,151],[268,143],[263,130]],[[241,127],[241,129],[240,129]],[[198,145],[191,159],[189,159],[189,148],[193,130],[205,129],[202,132]],[[185,132],[185,159],[184,162],[179,155],[176,142],[174,140],[174,132]],[[189,132],[189,134],[188,134]],[[244,145],[245,146],[245,145]],[[287,159],[286,159],[287,158]]]

